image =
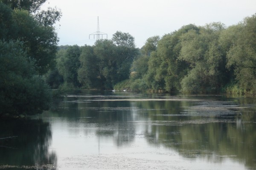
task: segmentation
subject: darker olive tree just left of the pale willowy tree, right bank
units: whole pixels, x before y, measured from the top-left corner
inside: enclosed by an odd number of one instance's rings
[[[186,75],[189,64],[179,60],[181,37],[189,30],[198,31],[195,25],[187,25],[178,31],[164,35],[157,42],[157,49],[151,52],[148,61],[147,85],[154,90],[180,90],[180,81]]]

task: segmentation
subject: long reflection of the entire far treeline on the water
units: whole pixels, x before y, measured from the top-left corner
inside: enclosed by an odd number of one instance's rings
[[[184,157],[214,162],[230,158],[255,169],[255,101],[212,96],[205,99],[193,96],[191,101],[182,99],[88,101],[87,96],[70,97],[50,115],[90,127],[84,130],[95,133],[99,144],[100,140],[109,138],[117,147],[128,146],[139,134],[150,145],[174,149]]]

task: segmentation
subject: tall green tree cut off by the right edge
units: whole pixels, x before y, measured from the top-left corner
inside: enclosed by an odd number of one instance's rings
[[[231,26],[223,35],[226,45],[227,67],[234,69],[238,86],[246,93],[256,94],[256,14],[237,26]]]

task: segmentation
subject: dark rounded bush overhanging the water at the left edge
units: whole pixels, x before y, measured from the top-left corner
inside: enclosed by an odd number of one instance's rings
[[[49,88],[35,75],[34,61],[18,41],[0,41],[0,116],[32,115],[49,109]]]

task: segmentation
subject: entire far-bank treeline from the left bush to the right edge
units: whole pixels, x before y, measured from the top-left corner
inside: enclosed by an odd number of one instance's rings
[[[116,32],[93,46],[60,46],[52,88],[129,89],[162,92],[256,94],[256,15],[226,28],[189,24],[135,48]]]

